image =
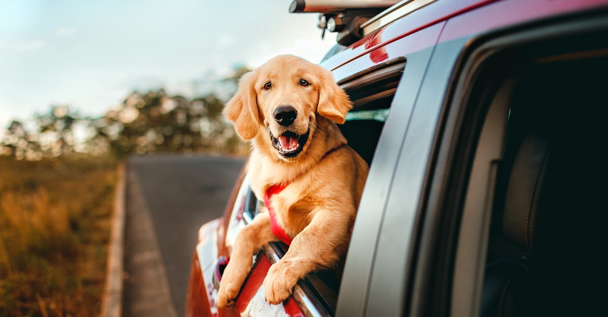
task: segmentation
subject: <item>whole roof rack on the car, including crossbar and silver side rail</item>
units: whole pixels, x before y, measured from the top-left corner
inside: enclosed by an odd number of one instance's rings
[[[317,27],[338,32],[336,41],[349,46],[375,30],[437,0],[294,0],[291,13],[317,12]]]

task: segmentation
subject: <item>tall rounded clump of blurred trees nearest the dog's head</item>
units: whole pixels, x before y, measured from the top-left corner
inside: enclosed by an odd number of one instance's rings
[[[188,100],[164,90],[134,92],[108,112],[98,135],[108,138],[114,155],[152,152],[223,152],[223,102],[213,94]]]

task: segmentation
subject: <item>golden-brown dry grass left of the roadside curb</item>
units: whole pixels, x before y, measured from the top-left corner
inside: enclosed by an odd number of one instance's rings
[[[0,157],[0,316],[98,315],[116,163]]]

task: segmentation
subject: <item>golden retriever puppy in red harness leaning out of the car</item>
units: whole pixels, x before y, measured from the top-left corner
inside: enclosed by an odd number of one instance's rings
[[[251,188],[268,210],[238,233],[218,307],[233,304],[253,256],[268,242],[291,242],[264,279],[270,304],[344,257],[368,172],[336,125],[351,107],[330,71],[296,56],[277,56],[241,78],[224,114],[251,140]]]

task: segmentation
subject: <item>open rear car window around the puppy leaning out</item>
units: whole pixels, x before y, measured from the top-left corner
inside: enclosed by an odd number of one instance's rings
[[[348,113],[346,122],[339,125],[340,131],[347,138],[348,145],[358,152],[368,165],[371,165],[373,160],[405,64],[404,58],[397,58],[338,83],[353,101],[353,109]],[[244,222],[249,223],[261,206],[263,202],[258,200],[249,188],[243,202]],[[263,251],[269,261],[274,263],[285,255],[288,246],[282,242],[271,242],[264,246]],[[321,315],[333,316],[340,288],[341,270],[341,267],[337,267],[309,274],[296,285],[293,294],[295,301],[300,307],[312,305]]]

